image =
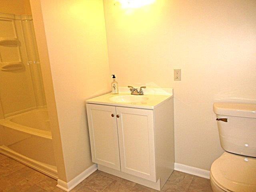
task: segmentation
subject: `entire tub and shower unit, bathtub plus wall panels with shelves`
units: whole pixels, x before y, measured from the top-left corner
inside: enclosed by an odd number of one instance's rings
[[[0,153],[56,179],[32,16],[0,13],[0,28]]]

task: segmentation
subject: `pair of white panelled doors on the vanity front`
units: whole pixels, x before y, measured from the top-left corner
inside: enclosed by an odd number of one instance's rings
[[[156,182],[153,110],[86,107],[92,161]]]

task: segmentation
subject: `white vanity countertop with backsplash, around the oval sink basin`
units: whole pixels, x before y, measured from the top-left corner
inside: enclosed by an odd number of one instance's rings
[[[140,109],[154,109],[163,102],[169,100],[173,97],[171,88],[146,88],[144,90],[144,95],[133,95],[132,97],[145,97],[147,100],[142,102],[114,102],[111,101],[115,96],[126,96],[130,95],[129,88],[119,87],[119,94],[104,94],[89,100],[86,103],[109,105],[109,106],[120,106],[120,107],[130,107],[130,108],[140,108]]]

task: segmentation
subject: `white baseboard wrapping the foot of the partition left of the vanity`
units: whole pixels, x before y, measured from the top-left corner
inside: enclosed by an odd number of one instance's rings
[[[72,190],[75,186],[77,186],[80,182],[82,182],[84,179],[86,179],[90,174],[95,172],[98,169],[97,164],[93,164],[88,169],[86,169],[84,172],[80,173],[78,176],[76,176],[74,179],[72,179],[70,182],[64,182],[60,179],[58,179],[57,187],[61,188],[64,191],[69,192]]]

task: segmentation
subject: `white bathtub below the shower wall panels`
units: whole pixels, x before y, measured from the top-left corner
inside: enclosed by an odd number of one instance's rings
[[[32,110],[0,120],[0,153],[57,179],[48,111]]]

